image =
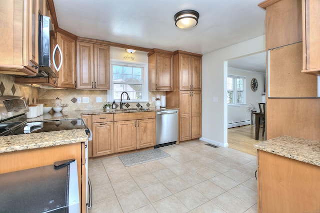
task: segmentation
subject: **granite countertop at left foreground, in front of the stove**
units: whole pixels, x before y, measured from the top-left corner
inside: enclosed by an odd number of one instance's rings
[[[83,129],[1,136],[0,153],[81,143],[86,140]]]

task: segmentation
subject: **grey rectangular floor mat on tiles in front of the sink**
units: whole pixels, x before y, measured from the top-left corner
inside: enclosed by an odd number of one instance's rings
[[[160,149],[152,149],[142,152],[120,155],[119,159],[122,161],[124,166],[129,167],[166,157],[170,157],[170,155]]]

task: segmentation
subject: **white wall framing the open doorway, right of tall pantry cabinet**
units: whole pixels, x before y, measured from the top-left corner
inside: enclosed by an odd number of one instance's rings
[[[227,146],[227,60],[265,51],[264,35],[202,56],[202,137],[217,146]],[[217,102],[213,102],[213,97]]]

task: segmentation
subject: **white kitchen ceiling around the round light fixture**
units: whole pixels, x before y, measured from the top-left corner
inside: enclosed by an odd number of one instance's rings
[[[53,0],[58,26],[77,36],[205,54],[264,34],[262,0]],[[175,26],[183,9],[199,12],[188,30]]]

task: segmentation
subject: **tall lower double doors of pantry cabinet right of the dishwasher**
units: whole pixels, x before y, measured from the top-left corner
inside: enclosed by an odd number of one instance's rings
[[[201,91],[180,91],[179,141],[201,137]]]

